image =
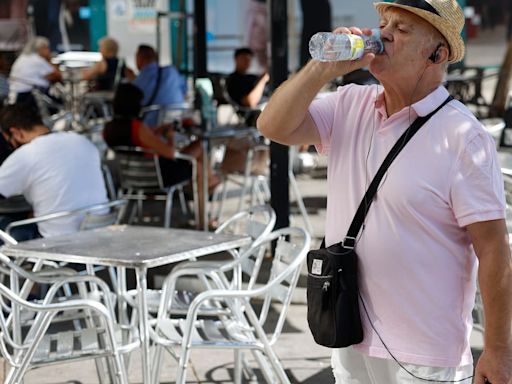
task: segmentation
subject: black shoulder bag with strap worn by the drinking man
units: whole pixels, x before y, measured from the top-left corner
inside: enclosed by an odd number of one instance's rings
[[[308,323],[317,344],[344,348],[363,341],[359,314],[358,258],[354,249],[357,236],[379,184],[393,160],[416,132],[452,99],[448,97],[435,111],[417,118],[398,139],[368,187],[345,238],[327,248],[322,243],[320,249],[308,253]]]

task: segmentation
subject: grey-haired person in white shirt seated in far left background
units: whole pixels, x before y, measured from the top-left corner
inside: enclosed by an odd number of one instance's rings
[[[14,61],[9,75],[11,91],[16,93],[16,103],[35,106],[32,89],[47,93],[50,83],[60,81],[59,69],[50,63],[50,42],[45,37],[29,40],[21,55]]]

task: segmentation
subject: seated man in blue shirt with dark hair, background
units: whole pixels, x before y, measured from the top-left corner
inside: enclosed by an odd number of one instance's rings
[[[140,45],[135,61],[139,75],[133,84],[144,93],[142,107],[182,104],[185,101],[185,79],[172,65],[160,67],[158,56],[152,47]],[[158,111],[146,113],[143,120],[146,125],[155,127],[158,122]]]

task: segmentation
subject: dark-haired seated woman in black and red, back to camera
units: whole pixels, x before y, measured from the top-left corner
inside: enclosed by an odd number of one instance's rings
[[[191,163],[175,158],[174,131],[170,125],[151,129],[140,119],[141,103],[144,94],[135,85],[123,83],[114,95],[114,119],[105,125],[103,137],[109,147],[128,146],[153,150],[160,156],[159,163],[164,185],[170,186],[192,178]],[[197,160],[197,185],[199,189],[199,210],[202,212],[202,162],[203,151],[199,141],[194,141],[180,150],[181,153]],[[212,190],[220,182],[208,167],[208,189]],[[200,215],[202,218],[203,215]],[[202,223],[200,223],[202,224]]]

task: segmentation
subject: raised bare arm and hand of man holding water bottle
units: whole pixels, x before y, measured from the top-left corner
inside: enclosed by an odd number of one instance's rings
[[[335,32],[362,34],[358,28],[338,28]],[[374,57],[368,53],[356,61],[310,61],[272,95],[258,118],[258,129],[281,144],[320,144],[320,134],[308,113],[309,105],[328,81],[367,66]]]

